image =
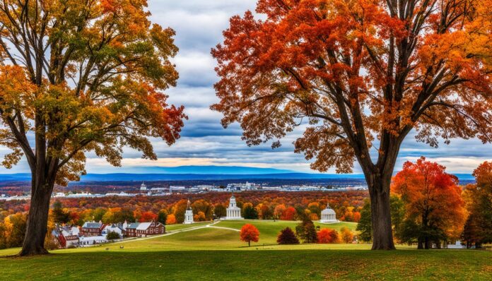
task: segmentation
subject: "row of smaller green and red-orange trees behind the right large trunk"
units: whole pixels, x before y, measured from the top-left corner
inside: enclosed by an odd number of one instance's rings
[[[458,240],[468,248],[492,243],[492,162],[477,167],[474,177],[476,184],[458,186],[457,178],[438,163],[423,157],[406,162],[391,186],[395,240],[418,249]],[[365,201],[357,226],[363,241],[372,241],[370,204]]]

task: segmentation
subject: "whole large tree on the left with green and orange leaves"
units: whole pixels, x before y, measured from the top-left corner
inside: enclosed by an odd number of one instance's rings
[[[2,164],[24,156],[32,175],[21,256],[47,253],[53,186],[78,180],[87,152],[119,166],[124,146],[155,160],[150,137],[169,145],[180,137],[183,108],[162,92],[177,80],[175,32],[152,24],[146,6],[1,2],[0,145],[12,150]]]

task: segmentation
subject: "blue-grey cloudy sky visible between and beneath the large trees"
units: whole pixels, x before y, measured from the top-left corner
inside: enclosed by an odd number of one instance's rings
[[[254,10],[256,0],[149,0],[152,20],[176,30],[175,42],[180,52],[175,58],[180,80],[177,88],[167,91],[170,102],[183,104],[189,120],[182,131],[182,138],[168,147],[163,141],[153,140],[159,160],[141,160],[139,153],[127,150],[123,167],[111,167],[105,160],[88,155],[87,172],[132,172],[133,167],[181,165],[228,165],[250,167],[274,167],[311,172],[303,155],[293,153],[292,142],[300,136],[295,131],[282,142],[282,147],[272,150],[269,145],[247,147],[240,139],[240,127],[227,129],[220,124],[221,114],[212,112],[209,105],[217,101],[213,83],[217,77],[215,62],[210,49],[221,42],[222,30],[228,27],[230,16]],[[0,155],[6,150],[0,148]],[[430,148],[417,143],[413,136],[406,138],[399,153],[397,169],[406,160],[421,155],[447,166],[448,171],[469,173],[484,160],[492,159],[492,145],[482,145],[479,140],[452,140],[450,145]],[[17,167],[0,173],[28,172],[21,162]],[[355,173],[360,173],[357,165]]]

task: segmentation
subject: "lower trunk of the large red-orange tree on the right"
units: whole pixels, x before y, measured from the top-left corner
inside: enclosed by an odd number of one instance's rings
[[[391,176],[372,177],[368,181],[371,220],[373,222],[373,250],[394,250],[389,208],[389,184]]]

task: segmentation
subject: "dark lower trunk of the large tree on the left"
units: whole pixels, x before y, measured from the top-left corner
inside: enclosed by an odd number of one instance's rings
[[[49,199],[52,195],[54,180],[37,181],[33,177],[32,186],[28,225],[22,249],[18,253],[18,256],[48,253],[45,249],[45,237],[47,232]]]

